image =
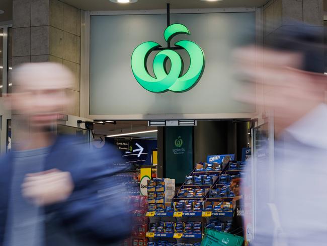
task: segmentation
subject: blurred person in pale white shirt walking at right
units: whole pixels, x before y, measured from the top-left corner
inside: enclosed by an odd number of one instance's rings
[[[251,245],[320,246],[327,241],[327,77],[319,33],[300,24],[275,35],[269,46],[234,53],[243,78],[265,87],[263,98],[246,90],[238,98],[274,113],[274,180],[268,183],[268,172],[255,178],[254,196],[261,201]],[[274,188],[271,200],[259,192],[268,186]]]

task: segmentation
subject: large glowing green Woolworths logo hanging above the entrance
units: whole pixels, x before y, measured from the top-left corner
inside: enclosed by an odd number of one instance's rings
[[[190,35],[190,31],[182,24],[173,24],[166,28],[164,37],[167,42],[170,42],[178,34]],[[156,93],[183,92],[191,89],[200,80],[205,66],[203,50],[189,40],[181,40],[175,45],[184,48],[190,55],[190,68],[183,76],[183,60],[175,50],[160,49],[153,60],[155,77],[152,77],[146,69],[146,61],[149,54],[161,46],[156,42],[149,41],[135,48],[131,60],[132,71],[135,79],[144,89]],[[170,59],[172,64],[169,72],[166,70],[167,59]]]

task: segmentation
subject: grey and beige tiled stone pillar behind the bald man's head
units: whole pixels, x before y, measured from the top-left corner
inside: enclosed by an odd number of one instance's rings
[[[73,88],[66,89],[73,104],[65,111],[75,116],[80,97],[80,13],[58,0],[13,0],[13,69],[42,61],[70,69],[76,79]]]

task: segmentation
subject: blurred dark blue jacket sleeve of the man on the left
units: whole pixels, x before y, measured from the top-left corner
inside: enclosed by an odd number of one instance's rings
[[[67,151],[58,149],[52,159],[65,155],[60,158],[60,169],[71,174],[74,190],[65,202],[49,206],[49,213],[69,231],[92,241],[113,242],[128,236],[131,213],[125,202],[126,188],[117,186],[113,176],[121,171],[113,165],[121,161],[121,154],[108,147],[106,152],[76,145],[64,148]]]

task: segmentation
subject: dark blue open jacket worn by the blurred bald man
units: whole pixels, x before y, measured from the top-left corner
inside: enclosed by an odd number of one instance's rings
[[[106,152],[113,153],[106,148]],[[6,230],[14,153],[0,159],[0,245]],[[113,157],[114,156],[114,157]],[[98,245],[127,237],[131,215],[122,188],[113,176],[120,154],[108,156],[77,138],[58,137],[46,158],[45,170],[70,172],[74,190],[63,203],[45,207],[45,245]],[[101,195],[99,195],[101,194]],[[90,244],[89,244],[90,243]]]

